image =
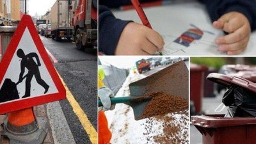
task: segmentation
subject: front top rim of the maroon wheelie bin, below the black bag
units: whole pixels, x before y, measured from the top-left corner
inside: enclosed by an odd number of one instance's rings
[[[191,116],[191,123],[204,128],[256,125],[256,117],[224,117],[224,114]]]

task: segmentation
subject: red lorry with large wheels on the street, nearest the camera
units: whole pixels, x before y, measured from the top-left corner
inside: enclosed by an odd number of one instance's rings
[[[71,0],[69,0],[71,4]],[[72,8],[72,7],[70,7]],[[73,39],[79,50],[97,46],[97,0],[75,0],[73,7]]]

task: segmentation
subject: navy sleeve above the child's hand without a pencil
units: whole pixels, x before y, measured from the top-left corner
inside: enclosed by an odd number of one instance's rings
[[[223,14],[237,11],[244,14],[251,25],[251,31],[256,29],[256,0],[199,0],[206,5],[212,21]]]

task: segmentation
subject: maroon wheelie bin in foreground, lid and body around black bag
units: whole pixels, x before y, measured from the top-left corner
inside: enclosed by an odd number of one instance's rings
[[[256,93],[256,84],[239,76],[210,73],[208,80],[225,87],[236,85]],[[256,144],[256,117],[224,115],[192,116],[191,123],[203,137],[203,144]]]

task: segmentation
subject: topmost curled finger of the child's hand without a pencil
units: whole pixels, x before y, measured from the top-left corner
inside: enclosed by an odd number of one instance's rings
[[[242,27],[244,21],[240,21],[238,17],[231,18],[229,22],[224,23],[223,30],[225,32],[231,33]]]

